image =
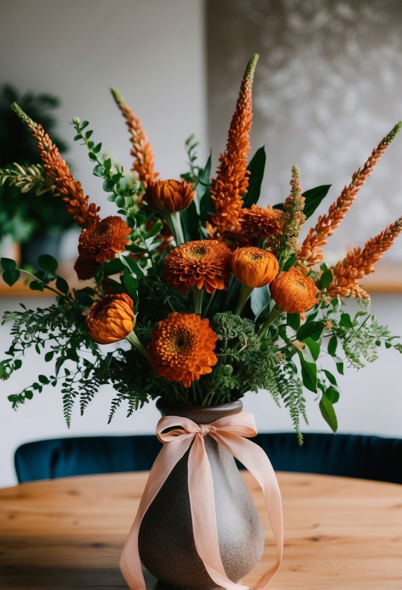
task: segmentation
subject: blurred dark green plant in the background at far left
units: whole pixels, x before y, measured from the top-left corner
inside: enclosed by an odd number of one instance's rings
[[[46,129],[54,130],[52,110],[60,106],[50,94],[17,90],[5,84],[0,90],[0,251],[21,245],[21,263],[35,266],[39,255],[58,255],[62,231],[71,227],[63,202],[54,198],[52,186],[42,175],[34,140],[25,136],[10,110],[12,101],[24,104]],[[57,139],[60,149],[66,145]],[[16,165],[18,162],[18,165]],[[40,198],[38,196],[40,195]],[[5,253],[3,255],[6,255]]]

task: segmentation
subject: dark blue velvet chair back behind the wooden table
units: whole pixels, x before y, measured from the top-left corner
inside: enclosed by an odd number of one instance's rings
[[[402,483],[402,440],[349,434],[258,434],[275,470]],[[18,481],[149,470],[161,448],[154,435],[57,438],[21,445]]]

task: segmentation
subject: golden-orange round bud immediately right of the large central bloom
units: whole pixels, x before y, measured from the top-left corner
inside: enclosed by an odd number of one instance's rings
[[[232,255],[232,273],[247,287],[263,287],[278,274],[278,260],[261,248],[238,248]]]

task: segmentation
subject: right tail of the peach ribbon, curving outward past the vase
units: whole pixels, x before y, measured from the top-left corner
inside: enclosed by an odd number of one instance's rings
[[[241,461],[262,488],[266,510],[276,542],[276,563],[259,579],[253,588],[253,590],[265,590],[281,566],[284,548],[282,498],[274,468],[262,448],[255,442],[229,432],[213,431],[209,434]]]

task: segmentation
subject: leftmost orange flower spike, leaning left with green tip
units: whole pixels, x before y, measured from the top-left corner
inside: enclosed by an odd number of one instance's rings
[[[17,103],[12,104],[11,108],[34,137],[41,156],[44,173],[49,181],[57,186],[58,193],[65,195],[63,197],[65,208],[68,213],[73,215],[77,225],[90,226],[99,221],[98,211],[100,207],[97,207],[94,203],[88,204],[89,197],[84,195],[81,182],[75,181],[73,174],[70,174],[68,165],[62,159],[57,147],[52,143],[43,127],[39,123],[32,121]]]

